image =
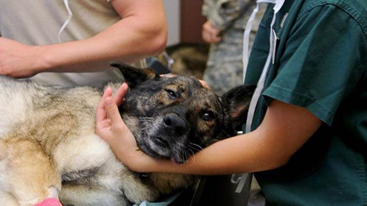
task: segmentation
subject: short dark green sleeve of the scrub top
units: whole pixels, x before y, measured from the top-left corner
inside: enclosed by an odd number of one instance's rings
[[[366,69],[367,42],[360,25],[334,5],[312,8],[299,14],[285,48],[279,68],[269,71],[266,102],[305,107],[331,125]]]

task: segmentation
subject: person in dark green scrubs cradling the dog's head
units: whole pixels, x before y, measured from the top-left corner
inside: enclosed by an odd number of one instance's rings
[[[97,121],[97,133],[138,172],[256,172],[270,206],[367,205],[367,1],[269,4],[245,84],[258,84],[267,59],[251,132],[204,148],[188,164],[143,154],[126,127],[114,126],[123,121],[110,91],[97,115],[107,112],[101,119],[112,126]]]

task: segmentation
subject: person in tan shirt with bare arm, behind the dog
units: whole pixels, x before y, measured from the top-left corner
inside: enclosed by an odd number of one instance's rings
[[[0,34],[0,75],[102,87],[121,78],[111,61],[163,51],[167,25],[161,0],[0,0]]]

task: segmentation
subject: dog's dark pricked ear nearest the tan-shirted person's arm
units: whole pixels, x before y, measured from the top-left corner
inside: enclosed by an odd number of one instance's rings
[[[112,63],[111,66],[118,68],[130,88],[134,88],[146,80],[159,80],[160,76],[151,69],[139,69],[123,63]]]

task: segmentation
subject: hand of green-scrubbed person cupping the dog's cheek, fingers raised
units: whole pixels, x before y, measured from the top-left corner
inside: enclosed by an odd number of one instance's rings
[[[126,83],[121,85],[113,98],[112,89],[106,89],[97,105],[96,133],[109,144],[116,157],[125,166],[137,172],[149,172],[149,165],[155,160],[139,149],[117,108],[117,105],[123,102],[126,92]]]

